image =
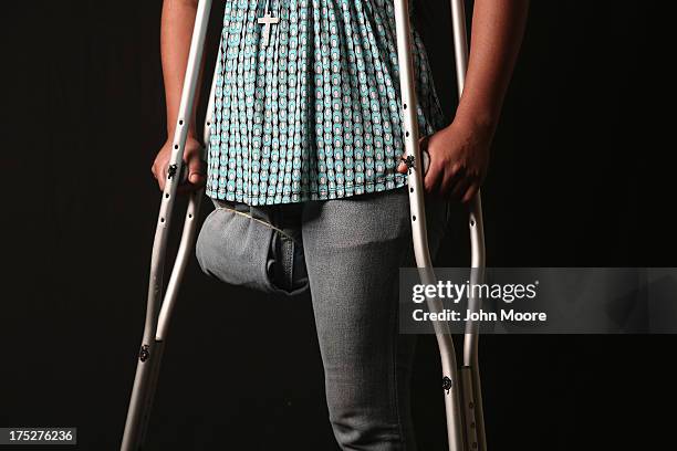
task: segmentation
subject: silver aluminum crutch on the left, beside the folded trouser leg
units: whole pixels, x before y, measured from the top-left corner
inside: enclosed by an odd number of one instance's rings
[[[125,421],[125,431],[121,445],[122,451],[136,451],[140,450],[143,447],[148,427],[153,398],[159,376],[159,367],[164,350],[164,334],[167,328],[171,306],[176,300],[178,286],[184,275],[188,258],[190,256],[190,249],[195,240],[195,231],[197,227],[196,220],[198,217],[200,200],[202,198],[202,190],[192,192],[190,196],[179,252],[167,289],[167,295],[163,300],[163,310],[158,315],[158,310],[160,307],[159,301],[163,298],[163,277],[167,239],[171,223],[171,212],[175,204],[176,189],[180,182],[180,175],[184,164],[184,149],[186,147],[186,139],[188,137],[188,122],[197,96],[198,76],[202,61],[202,50],[205,48],[205,38],[210,10],[211,0],[201,0],[198,4],[195,18],[195,28],[190,43],[186,77],[181,92],[177,126],[174,134],[174,145],[169,161],[167,182],[165,183],[158,222],[155,230],[153,253],[150,258],[150,277],[148,286],[148,302],[146,307],[146,322],[136,366],[136,375],[134,377],[134,387],[132,389],[129,408],[127,410],[127,418]],[[212,97],[213,94],[210,95],[210,99]],[[209,111],[211,111],[211,107]],[[208,118],[208,123],[209,120],[210,119]]]

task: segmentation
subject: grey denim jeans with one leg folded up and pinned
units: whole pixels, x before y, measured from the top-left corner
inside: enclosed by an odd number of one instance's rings
[[[409,379],[416,335],[398,334],[400,266],[416,266],[407,187],[251,207],[213,200],[196,255],[226,283],[310,290],[334,436],[343,450],[416,450]],[[449,202],[426,198],[435,259]]]

